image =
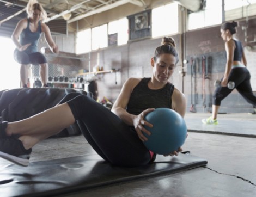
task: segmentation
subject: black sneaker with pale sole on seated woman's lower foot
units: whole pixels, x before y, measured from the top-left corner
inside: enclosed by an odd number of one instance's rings
[[[28,166],[32,149],[25,149],[21,140],[13,137],[0,139],[0,157],[17,165]]]

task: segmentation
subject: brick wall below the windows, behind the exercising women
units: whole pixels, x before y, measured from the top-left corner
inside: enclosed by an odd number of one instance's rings
[[[250,20],[250,27],[256,20]],[[241,21],[244,24],[245,21]],[[249,28],[248,28],[249,29]],[[240,26],[237,28],[237,36],[245,43],[244,30]],[[247,31],[249,38],[254,35],[254,31]],[[251,35],[252,34],[252,35]],[[180,54],[180,61],[174,75],[170,79],[176,88],[184,91],[187,98],[187,111],[189,111],[191,104],[197,109],[197,112],[211,111],[212,94],[214,93],[214,81],[223,76],[225,69],[225,51],[224,41],[220,37],[220,26],[202,28],[186,32],[186,50],[185,57],[182,55],[181,35],[173,35],[176,41],[176,48]],[[116,69],[120,70],[116,73],[106,73],[104,75],[97,75],[97,86],[99,90],[100,99],[106,96],[112,102],[117,99],[123,83],[129,77],[150,77],[152,70],[150,66],[150,58],[154,55],[154,50],[161,44],[162,38],[157,39],[142,39],[129,42],[122,46],[111,46],[102,50],[97,50],[90,53],[90,62],[84,60],[81,65],[88,70],[97,65],[97,58],[99,57],[99,66],[104,70]],[[98,56],[99,53],[99,56]],[[255,61],[253,54],[250,52],[248,63],[253,64]],[[202,78],[202,57],[206,58],[206,67],[208,71],[208,78]],[[88,58],[88,54],[81,57]],[[196,60],[196,72],[193,72],[191,77],[191,63],[182,65],[182,60],[190,60],[193,57]],[[183,58],[183,59],[182,59]],[[186,75],[182,78],[179,73],[185,67]],[[249,65],[248,65],[249,67]],[[253,67],[251,65],[251,67]],[[255,67],[255,66],[254,66]],[[256,71],[251,71],[252,77],[256,76]],[[184,83],[183,83],[184,81]],[[205,89],[203,89],[203,83]],[[192,85],[191,85],[192,84]],[[192,91],[191,91],[192,88]],[[205,94],[204,94],[205,93]],[[193,102],[192,102],[193,100]],[[249,112],[252,110],[252,105],[247,103],[240,94],[234,90],[226,99],[223,100],[220,112],[239,113]]]

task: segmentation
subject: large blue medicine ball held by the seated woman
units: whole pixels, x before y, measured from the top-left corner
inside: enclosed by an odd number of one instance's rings
[[[154,153],[167,155],[181,147],[187,137],[187,126],[184,118],[169,108],[157,108],[145,115],[144,120],[153,124],[153,127],[144,126],[151,135],[145,146]]]

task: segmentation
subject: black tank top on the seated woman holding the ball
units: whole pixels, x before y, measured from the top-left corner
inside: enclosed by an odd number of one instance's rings
[[[133,89],[126,107],[128,113],[138,115],[148,108],[172,108],[174,85],[168,82],[161,89],[151,90],[148,87],[150,79],[151,78],[142,78]]]

